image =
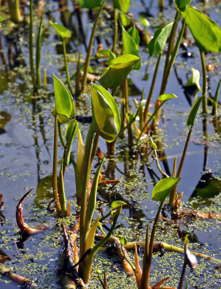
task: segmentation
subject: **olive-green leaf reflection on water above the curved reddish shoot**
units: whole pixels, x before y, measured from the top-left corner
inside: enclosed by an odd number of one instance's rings
[[[45,208],[45,203],[43,204],[44,199],[46,200],[53,199],[53,193],[51,189],[52,189],[52,175],[49,175],[38,181],[38,187],[36,190],[37,196],[34,199],[34,203],[36,204],[37,208],[40,209]]]

